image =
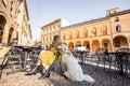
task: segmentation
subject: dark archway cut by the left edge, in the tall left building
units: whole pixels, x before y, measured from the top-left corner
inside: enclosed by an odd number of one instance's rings
[[[4,16],[0,15],[0,43],[2,42],[3,29],[5,26],[6,19]]]

